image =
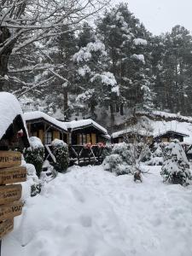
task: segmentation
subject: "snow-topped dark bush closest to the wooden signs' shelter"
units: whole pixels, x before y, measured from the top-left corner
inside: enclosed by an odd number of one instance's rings
[[[26,163],[35,166],[38,177],[40,177],[44,163],[44,145],[38,137],[30,137],[30,147],[24,149]]]

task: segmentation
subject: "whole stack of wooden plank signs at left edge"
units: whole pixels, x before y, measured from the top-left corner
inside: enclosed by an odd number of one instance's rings
[[[26,167],[20,164],[20,152],[0,151],[0,239],[14,229],[14,218],[22,212],[22,186],[15,183],[26,181]]]

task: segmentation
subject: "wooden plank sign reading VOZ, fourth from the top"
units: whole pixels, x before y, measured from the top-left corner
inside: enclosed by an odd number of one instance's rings
[[[14,218],[22,213],[23,203],[15,201],[11,204],[0,206],[0,221],[7,218]]]

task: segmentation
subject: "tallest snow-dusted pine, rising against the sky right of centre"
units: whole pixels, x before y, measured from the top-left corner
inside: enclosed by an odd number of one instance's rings
[[[129,11],[127,4],[106,12],[97,22],[110,58],[110,71],[119,84],[117,104],[128,108],[153,108],[151,65],[147,39],[150,34]]]

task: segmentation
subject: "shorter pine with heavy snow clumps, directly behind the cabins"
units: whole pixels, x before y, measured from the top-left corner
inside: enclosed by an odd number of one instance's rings
[[[119,86],[108,71],[108,53],[101,39],[95,36],[93,42],[73,55],[77,67],[76,86],[79,95],[75,99],[77,107],[84,108],[91,118],[96,119],[96,107],[108,107],[119,96]]]

